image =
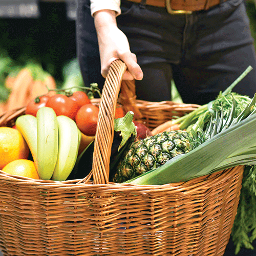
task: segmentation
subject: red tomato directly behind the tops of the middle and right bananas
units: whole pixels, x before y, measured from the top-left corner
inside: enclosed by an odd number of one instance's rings
[[[46,102],[46,106],[52,108],[57,116],[68,116],[75,120],[76,113],[79,110],[78,104],[63,94],[55,94]]]

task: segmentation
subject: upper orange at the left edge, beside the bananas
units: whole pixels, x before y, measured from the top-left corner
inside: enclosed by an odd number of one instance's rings
[[[29,147],[22,134],[11,127],[0,127],[0,169],[16,159],[27,159]]]

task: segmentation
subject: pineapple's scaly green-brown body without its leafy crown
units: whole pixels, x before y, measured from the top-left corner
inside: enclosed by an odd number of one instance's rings
[[[163,132],[135,141],[117,167],[113,182],[121,183],[158,168],[178,154],[191,150],[191,135],[185,131]]]

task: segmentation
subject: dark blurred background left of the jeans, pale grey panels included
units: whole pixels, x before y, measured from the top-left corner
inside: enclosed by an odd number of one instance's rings
[[[75,0],[0,0],[0,56],[36,61],[61,81],[76,57],[75,18]]]

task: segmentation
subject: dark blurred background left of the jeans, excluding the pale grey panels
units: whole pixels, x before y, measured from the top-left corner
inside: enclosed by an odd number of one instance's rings
[[[61,80],[65,62],[76,56],[75,21],[65,2],[39,2],[38,18],[1,18],[0,54],[25,64],[29,59]]]

